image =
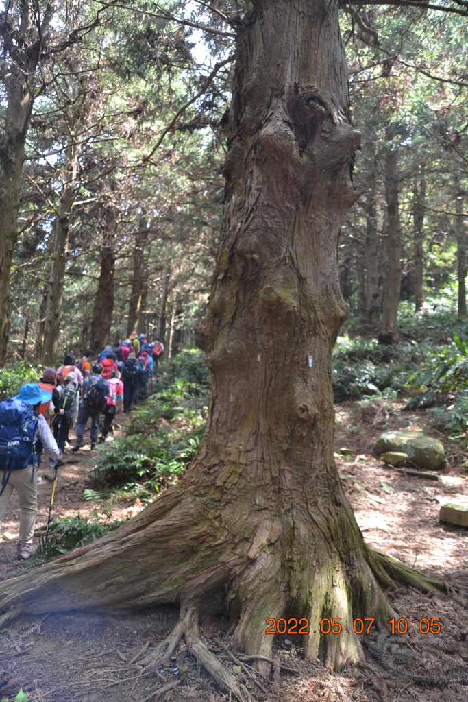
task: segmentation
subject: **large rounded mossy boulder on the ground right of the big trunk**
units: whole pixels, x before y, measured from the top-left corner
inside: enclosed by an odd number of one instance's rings
[[[408,461],[424,470],[437,470],[446,460],[446,453],[439,439],[408,429],[385,432],[380,436],[375,448],[378,453],[406,453]]]

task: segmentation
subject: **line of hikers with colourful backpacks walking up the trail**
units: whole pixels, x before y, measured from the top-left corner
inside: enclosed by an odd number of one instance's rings
[[[116,413],[131,411],[147,396],[148,381],[163,350],[159,339],[150,343],[144,334],[133,332],[121,343],[105,346],[94,361],[91,349],[78,362],[67,354],[57,370],[46,368],[38,383],[22,385],[18,395],[0,402],[0,527],[14,488],[20,498],[18,560],[29,558],[37,548],[33,544],[37,470],[43,453],[53,468],[63,465],[69,430],[76,430],[71,450],[79,451],[85,445],[88,419],[91,450],[95,449],[101,416],[100,443],[104,443]]]

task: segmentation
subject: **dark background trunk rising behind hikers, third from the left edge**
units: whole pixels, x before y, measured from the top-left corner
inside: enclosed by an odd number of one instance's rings
[[[91,348],[95,353],[100,352],[109,343],[112,312],[114,311],[116,229],[117,211],[116,208],[109,206],[105,212],[105,231],[101,247],[101,270],[89,334]]]

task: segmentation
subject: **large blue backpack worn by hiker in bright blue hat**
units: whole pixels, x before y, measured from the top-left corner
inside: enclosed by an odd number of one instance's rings
[[[31,463],[34,475],[34,434],[38,421],[32,406],[26,402],[13,397],[0,402],[0,470],[4,471],[0,495],[12,470],[21,470]]]

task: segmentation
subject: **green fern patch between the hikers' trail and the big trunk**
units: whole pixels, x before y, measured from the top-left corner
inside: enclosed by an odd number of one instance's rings
[[[123,437],[98,447],[95,486],[121,486],[120,498],[149,502],[192,462],[206,424],[209,374],[198,350],[164,366],[149,399],[132,412]]]

